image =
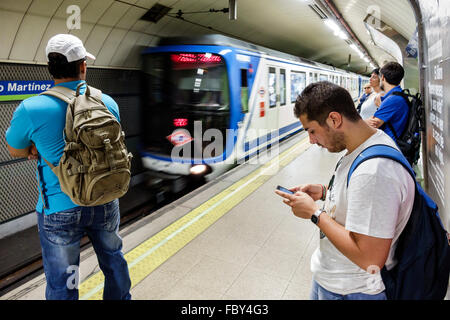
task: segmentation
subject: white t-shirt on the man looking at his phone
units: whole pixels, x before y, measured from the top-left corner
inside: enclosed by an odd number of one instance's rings
[[[325,210],[351,232],[393,239],[386,261],[386,268],[390,269],[396,263],[393,256],[398,237],[411,214],[415,182],[401,164],[374,158],[356,168],[347,189],[351,164],[361,151],[374,144],[396,147],[388,135],[378,130],[351,154],[345,155],[335,172],[333,187],[327,193]],[[379,273],[361,269],[327,237],[320,240],[319,248],[312,255],[311,271],[315,281],[337,294],[377,294],[385,289]]]

